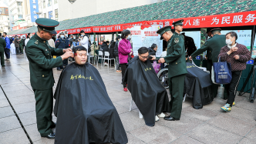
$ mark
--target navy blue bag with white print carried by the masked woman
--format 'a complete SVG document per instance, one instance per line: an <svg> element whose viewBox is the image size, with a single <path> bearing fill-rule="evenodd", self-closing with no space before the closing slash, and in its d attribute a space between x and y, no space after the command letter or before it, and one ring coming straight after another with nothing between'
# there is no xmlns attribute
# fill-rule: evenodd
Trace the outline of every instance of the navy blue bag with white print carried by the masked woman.
<svg viewBox="0 0 256 144"><path fill-rule="evenodd" d="M211 80L215 84L228 84L232 79L231 64L227 62L214 62L211 69Z"/></svg>

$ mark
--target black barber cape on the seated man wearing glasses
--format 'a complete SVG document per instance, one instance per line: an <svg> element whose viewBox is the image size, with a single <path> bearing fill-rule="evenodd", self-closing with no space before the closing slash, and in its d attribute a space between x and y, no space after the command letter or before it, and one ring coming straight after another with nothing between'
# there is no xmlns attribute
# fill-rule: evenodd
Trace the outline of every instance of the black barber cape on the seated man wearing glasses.
<svg viewBox="0 0 256 144"><path fill-rule="evenodd" d="M157 78L150 60L141 62L139 57L135 56L128 63L123 82L127 82L127 88L147 126L155 125L156 115L170 112L167 91Z"/></svg>

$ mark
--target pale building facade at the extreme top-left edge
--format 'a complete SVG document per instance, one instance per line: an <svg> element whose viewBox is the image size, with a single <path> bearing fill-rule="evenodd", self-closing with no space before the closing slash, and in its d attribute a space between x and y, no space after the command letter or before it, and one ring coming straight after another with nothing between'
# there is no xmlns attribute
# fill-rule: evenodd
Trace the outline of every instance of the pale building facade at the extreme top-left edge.
<svg viewBox="0 0 256 144"><path fill-rule="evenodd" d="M8 6L0 2L0 32L9 32Z"/></svg>

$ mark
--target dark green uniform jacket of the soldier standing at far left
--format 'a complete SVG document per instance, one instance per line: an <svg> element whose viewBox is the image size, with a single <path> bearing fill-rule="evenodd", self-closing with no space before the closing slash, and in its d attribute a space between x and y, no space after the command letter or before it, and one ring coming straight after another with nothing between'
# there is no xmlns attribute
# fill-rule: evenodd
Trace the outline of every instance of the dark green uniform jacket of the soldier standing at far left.
<svg viewBox="0 0 256 144"><path fill-rule="evenodd" d="M52 48L47 40L34 35L25 47L25 53L29 59L30 83L32 89L51 89L54 85L52 68L62 65L59 56L52 59L52 55L62 55L63 49Z"/></svg>

